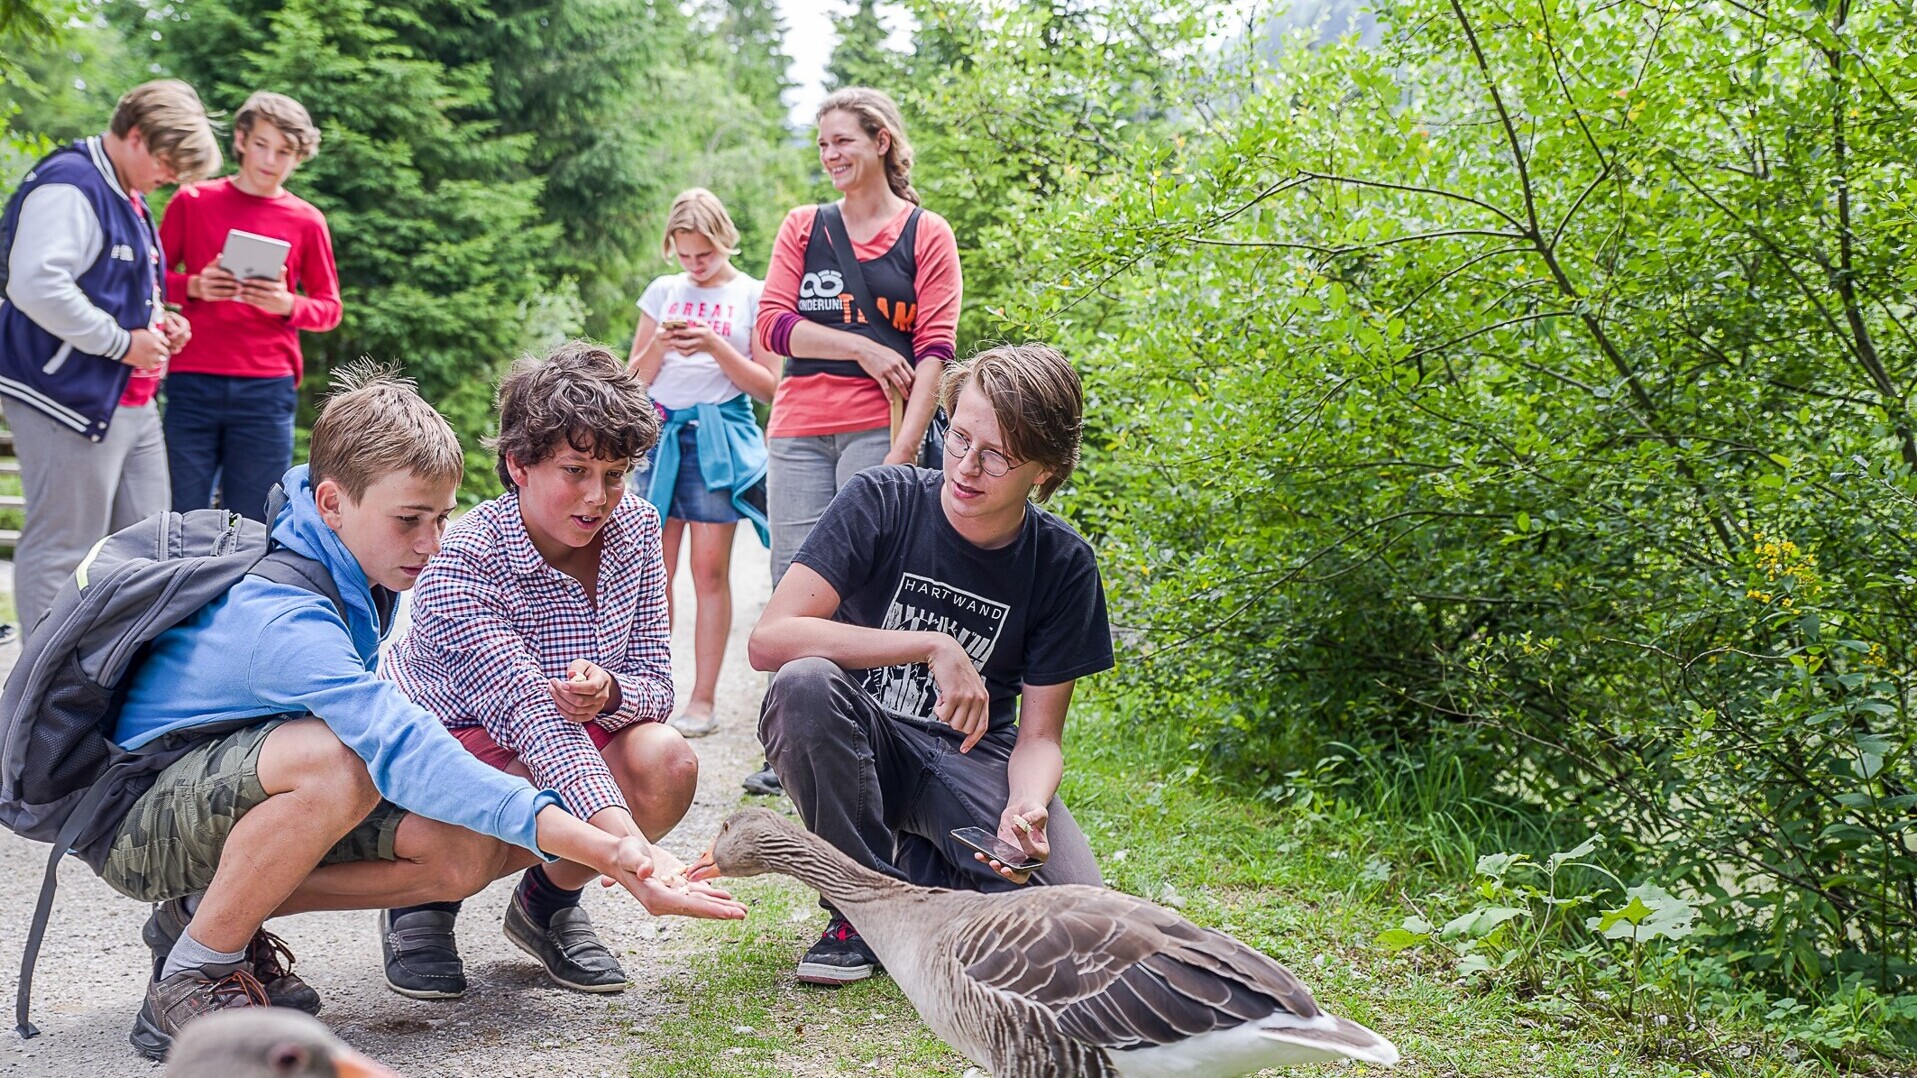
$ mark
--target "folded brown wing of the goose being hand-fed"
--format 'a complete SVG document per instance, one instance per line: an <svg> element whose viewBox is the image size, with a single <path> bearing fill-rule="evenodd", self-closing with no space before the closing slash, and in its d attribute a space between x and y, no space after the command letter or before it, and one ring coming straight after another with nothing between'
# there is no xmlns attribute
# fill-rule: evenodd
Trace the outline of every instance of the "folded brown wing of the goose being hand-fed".
<svg viewBox="0 0 1917 1078"><path fill-rule="evenodd" d="M960 934L964 976L1049 1011L1083 1043L1175 1043L1288 1011L1319 1015L1288 969L1150 902L1052 886L985 907Z"/></svg>

